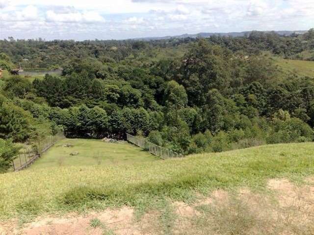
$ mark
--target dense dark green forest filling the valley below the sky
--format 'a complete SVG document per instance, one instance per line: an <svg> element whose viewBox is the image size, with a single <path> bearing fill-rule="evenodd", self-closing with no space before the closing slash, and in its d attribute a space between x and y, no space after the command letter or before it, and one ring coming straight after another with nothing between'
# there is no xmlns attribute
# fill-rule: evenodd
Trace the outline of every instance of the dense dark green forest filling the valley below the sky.
<svg viewBox="0 0 314 235"><path fill-rule="evenodd" d="M31 143L64 131L123 139L128 132L183 154L313 141L314 75L283 74L272 56L314 60L314 30L145 42L2 40L0 138ZM19 63L63 75L10 75Z"/></svg>

